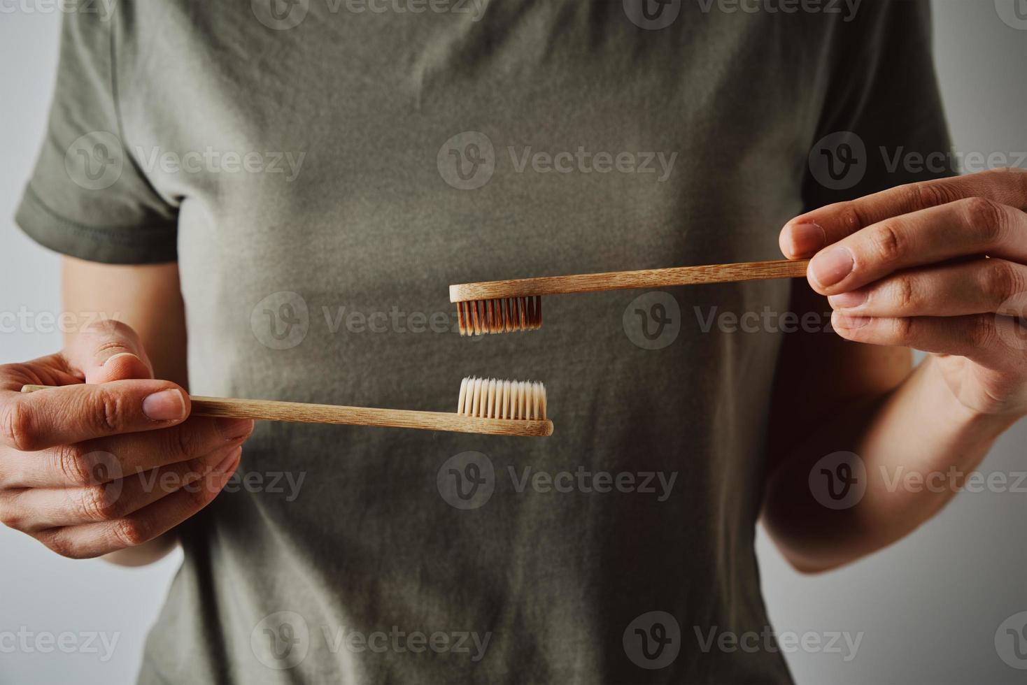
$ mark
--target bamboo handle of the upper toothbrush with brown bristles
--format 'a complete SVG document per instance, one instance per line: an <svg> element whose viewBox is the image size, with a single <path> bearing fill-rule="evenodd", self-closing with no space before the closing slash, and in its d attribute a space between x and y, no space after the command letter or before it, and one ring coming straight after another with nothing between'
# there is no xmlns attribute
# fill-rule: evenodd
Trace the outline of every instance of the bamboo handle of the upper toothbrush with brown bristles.
<svg viewBox="0 0 1027 685"><path fill-rule="evenodd" d="M630 290L633 288L665 288L673 285L758 281L772 278L797 278L806 275L809 259L778 259L715 264L701 267L614 271L605 274L543 276L510 281L463 283L450 286L450 301L459 303L496 297L527 297L557 295L570 292Z"/></svg>

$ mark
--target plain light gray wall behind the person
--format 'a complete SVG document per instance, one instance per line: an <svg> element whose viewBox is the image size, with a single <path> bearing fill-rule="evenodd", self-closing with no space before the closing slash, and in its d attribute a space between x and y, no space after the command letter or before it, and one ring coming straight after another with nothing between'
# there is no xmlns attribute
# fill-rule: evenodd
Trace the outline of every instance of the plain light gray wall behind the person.
<svg viewBox="0 0 1027 685"><path fill-rule="evenodd" d="M1027 0L935 0L938 66L961 152L1027 151L1027 22L1011 26L1000 18L1002 12L1015 17L1014 2L1027 14ZM60 23L52 4L0 1L0 315L24 308L38 324L0 331L0 363L34 358L61 342L59 332L38 330L46 322L40 314L60 312L58 257L10 219L43 136ZM1022 422L995 446L982 472L1027 471L1025 444ZM778 633L863 633L849 661L815 650L788 654L796 680L1024 682L1024 672L999 657L995 632L1027 611L1025 515L1027 492L963 493L900 545L820 576L792 572L761 533L763 587ZM100 653L9 652L0 641L0 683L130 682L179 560L144 569L70 561L0 528L0 635L118 635L106 660L103 647Z"/></svg>

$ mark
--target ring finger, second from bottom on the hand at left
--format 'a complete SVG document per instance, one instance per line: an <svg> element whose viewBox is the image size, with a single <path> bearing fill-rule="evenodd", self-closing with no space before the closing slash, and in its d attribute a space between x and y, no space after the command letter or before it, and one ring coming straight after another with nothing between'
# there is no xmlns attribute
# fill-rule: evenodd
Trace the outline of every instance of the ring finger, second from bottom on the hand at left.
<svg viewBox="0 0 1027 685"><path fill-rule="evenodd" d="M182 488L199 488L203 478L241 447L223 445L201 457L126 478L75 488L27 488L0 492L4 524L33 534L55 527L115 521Z"/></svg>

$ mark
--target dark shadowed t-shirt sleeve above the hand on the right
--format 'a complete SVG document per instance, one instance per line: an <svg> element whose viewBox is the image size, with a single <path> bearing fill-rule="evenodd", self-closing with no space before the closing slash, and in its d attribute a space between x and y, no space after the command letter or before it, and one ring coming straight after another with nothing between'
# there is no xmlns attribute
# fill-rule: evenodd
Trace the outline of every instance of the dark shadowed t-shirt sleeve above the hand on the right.
<svg viewBox="0 0 1027 685"><path fill-rule="evenodd" d="M928 0L864 2L836 37L803 180L806 208L954 175Z"/></svg>

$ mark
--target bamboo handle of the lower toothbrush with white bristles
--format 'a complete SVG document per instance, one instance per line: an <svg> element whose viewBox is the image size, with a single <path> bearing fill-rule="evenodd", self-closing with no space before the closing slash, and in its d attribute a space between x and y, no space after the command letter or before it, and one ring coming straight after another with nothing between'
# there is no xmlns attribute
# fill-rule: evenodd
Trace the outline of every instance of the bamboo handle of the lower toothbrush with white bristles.
<svg viewBox="0 0 1027 685"><path fill-rule="evenodd" d="M24 386L23 393L46 390L49 386ZM411 411L409 409L375 409L345 407L334 404L306 404L276 400L241 400L224 397L190 396L191 415L222 418L253 418L304 424L335 424L344 426L378 426L382 428L421 429L486 435L537 436L553 435L550 420L509 418L478 418L444 411Z"/></svg>

